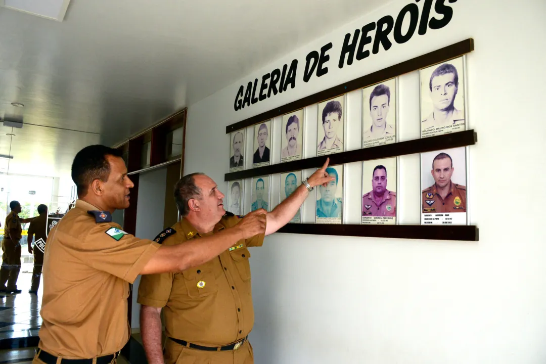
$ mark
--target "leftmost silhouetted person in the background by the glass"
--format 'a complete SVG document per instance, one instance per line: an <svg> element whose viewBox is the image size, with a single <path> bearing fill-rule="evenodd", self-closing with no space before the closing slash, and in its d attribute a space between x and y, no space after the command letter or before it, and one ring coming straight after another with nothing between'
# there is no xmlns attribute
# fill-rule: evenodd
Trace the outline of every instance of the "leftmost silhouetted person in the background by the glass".
<svg viewBox="0 0 546 364"><path fill-rule="evenodd" d="M21 213L21 204L19 201L11 201L9 203L11 212L5 218L4 224L4 240L2 240L2 267L0 267L0 292L5 293L21 293L17 289L17 278L21 271L21 234L23 228L21 224L26 224L34 219L22 219L19 217ZM7 285L6 285L7 282Z"/></svg>

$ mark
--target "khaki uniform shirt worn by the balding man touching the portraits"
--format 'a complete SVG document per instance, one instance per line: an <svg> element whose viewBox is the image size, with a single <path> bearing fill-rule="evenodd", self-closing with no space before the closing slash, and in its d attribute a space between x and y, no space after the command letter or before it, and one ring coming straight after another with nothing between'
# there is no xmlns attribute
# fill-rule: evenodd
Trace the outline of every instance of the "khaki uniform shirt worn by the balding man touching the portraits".
<svg viewBox="0 0 546 364"><path fill-rule="evenodd" d="M224 216L211 234L238 222L238 217ZM169 229L174 230L170 232L173 235L165 238L163 245L201 237L186 219ZM256 235L236 242L232 248L198 267L179 273L142 276L137 302L163 308L165 333L169 337L205 346L239 341L254 325L247 248L262 246L263 242L264 234Z"/></svg>

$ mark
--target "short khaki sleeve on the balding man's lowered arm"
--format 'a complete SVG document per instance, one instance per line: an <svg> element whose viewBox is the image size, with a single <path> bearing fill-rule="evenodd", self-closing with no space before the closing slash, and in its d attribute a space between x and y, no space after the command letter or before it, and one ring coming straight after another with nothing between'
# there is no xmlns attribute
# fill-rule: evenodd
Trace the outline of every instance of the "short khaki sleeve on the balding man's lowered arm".
<svg viewBox="0 0 546 364"><path fill-rule="evenodd" d="M176 236L176 235L175 235ZM176 242L175 236L165 239L162 245L172 246ZM174 273L160 273L155 275L143 275L138 287L136 302L140 305L163 308L167 305L171 289L173 288Z"/></svg>

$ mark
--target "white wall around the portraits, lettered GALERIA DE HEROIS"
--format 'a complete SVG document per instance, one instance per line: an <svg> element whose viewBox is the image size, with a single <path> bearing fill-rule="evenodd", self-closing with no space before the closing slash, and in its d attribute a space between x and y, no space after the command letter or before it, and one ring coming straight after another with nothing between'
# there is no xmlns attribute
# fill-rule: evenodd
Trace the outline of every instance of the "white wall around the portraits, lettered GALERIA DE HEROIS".
<svg viewBox="0 0 546 364"><path fill-rule="evenodd" d="M475 41L467 57L467 108L478 144L470 148L468 186L479 242L267 237L251 259L257 363L546 362L546 239L539 228L546 218L539 207L546 199L546 123L535 117L546 98L546 2L458 1L450 4L447 27L337 68L345 33L396 16L408 3L391 2L189 107L184 173L206 172L225 190L226 125L456 41ZM329 73L304 83L305 56L329 41ZM294 89L234 111L241 84L293 58L300 61ZM418 92L418 73L400 77L400 140L419 136ZM419 156L400 159L400 219L419 223Z"/></svg>

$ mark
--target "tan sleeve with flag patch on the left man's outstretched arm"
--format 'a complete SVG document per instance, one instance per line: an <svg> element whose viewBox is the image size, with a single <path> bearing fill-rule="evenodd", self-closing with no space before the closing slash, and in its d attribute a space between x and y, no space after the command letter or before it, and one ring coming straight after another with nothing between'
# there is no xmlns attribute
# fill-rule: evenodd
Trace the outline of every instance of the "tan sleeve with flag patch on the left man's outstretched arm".
<svg viewBox="0 0 546 364"><path fill-rule="evenodd" d="M60 231L57 232L57 234ZM160 245L147 239L127 234L117 225L94 225L83 243L67 247L85 253L84 262L91 267L108 272L124 281L133 283Z"/></svg>

